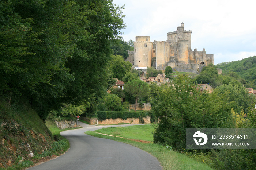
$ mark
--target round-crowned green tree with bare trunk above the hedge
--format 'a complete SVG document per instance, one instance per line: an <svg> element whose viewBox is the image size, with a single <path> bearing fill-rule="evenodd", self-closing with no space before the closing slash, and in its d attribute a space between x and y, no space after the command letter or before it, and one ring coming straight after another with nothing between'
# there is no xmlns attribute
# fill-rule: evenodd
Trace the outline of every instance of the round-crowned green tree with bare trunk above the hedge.
<svg viewBox="0 0 256 170"><path fill-rule="evenodd" d="M138 98L146 97L149 94L148 84L139 79L128 81L124 85L124 90L135 98L135 111L137 109Z"/></svg>

